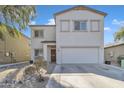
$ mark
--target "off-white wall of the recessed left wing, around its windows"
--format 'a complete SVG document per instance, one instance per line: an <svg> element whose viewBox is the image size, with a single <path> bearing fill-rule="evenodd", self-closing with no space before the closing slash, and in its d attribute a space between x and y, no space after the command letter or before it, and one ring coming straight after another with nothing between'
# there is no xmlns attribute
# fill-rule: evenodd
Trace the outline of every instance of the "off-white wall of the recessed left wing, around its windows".
<svg viewBox="0 0 124 93"><path fill-rule="evenodd" d="M43 30L44 37L34 37L34 31L35 30ZM56 41L56 31L55 31L55 25L50 26L35 26L31 27L31 59L34 60L34 50L35 49L41 49L43 48L44 44L41 43L42 41ZM45 50L43 50L43 53L46 53ZM46 59L46 54L44 54Z"/></svg>

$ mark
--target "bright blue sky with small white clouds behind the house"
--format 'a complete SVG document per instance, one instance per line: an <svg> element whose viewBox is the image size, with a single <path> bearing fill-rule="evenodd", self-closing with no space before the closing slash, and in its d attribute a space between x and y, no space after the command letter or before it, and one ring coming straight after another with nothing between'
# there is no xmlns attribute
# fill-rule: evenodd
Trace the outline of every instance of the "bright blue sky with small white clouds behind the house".
<svg viewBox="0 0 124 93"><path fill-rule="evenodd" d="M54 24L53 14L68 8L72 5L41 5L36 6L37 16L31 24ZM113 34L124 26L124 6L105 6L105 5L89 5L88 7L107 13L104 24L104 43L114 41ZM24 34L30 37L30 28L28 27Z"/></svg>

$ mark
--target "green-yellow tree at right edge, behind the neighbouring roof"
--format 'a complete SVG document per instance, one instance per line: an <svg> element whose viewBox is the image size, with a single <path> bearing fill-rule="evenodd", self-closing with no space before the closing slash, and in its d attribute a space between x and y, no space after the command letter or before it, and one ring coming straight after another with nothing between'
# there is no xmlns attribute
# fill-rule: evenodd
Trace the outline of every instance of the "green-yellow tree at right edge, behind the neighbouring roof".
<svg viewBox="0 0 124 93"><path fill-rule="evenodd" d="M115 41L124 40L124 27L114 34Z"/></svg>

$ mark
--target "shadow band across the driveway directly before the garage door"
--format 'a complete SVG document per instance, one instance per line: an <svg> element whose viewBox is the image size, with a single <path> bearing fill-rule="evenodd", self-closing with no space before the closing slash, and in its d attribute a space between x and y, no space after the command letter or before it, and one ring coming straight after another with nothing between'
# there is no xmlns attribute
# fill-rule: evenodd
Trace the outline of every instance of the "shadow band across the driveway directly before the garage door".
<svg viewBox="0 0 124 93"><path fill-rule="evenodd" d="M98 64L80 64L80 65L56 65L54 74L87 74L93 73L109 78L124 80L124 70L117 70L115 68L109 68L104 65Z"/></svg>

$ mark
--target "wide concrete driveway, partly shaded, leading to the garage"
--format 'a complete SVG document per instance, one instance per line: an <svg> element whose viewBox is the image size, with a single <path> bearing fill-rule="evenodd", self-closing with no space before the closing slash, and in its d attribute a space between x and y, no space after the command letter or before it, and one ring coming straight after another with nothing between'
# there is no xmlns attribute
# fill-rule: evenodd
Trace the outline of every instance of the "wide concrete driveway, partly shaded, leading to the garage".
<svg viewBox="0 0 124 93"><path fill-rule="evenodd" d="M124 88L124 70L98 64L56 65L46 87Z"/></svg>

